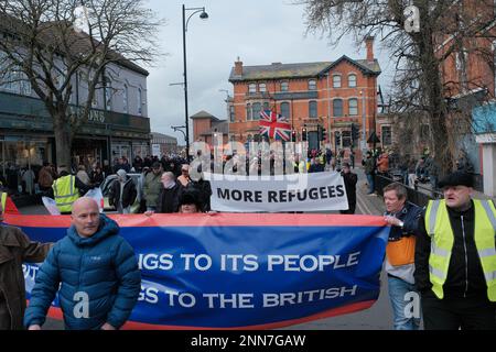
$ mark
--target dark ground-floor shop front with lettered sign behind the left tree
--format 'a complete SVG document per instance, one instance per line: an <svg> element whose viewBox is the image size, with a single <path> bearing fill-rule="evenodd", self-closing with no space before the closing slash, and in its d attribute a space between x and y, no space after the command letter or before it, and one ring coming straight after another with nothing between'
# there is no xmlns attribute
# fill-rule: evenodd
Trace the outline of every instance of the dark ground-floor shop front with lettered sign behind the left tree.
<svg viewBox="0 0 496 352"><path fill-rule="evenodd" d="M150 151L150 120L95 110L72 145L73 167L111 165L115 157L144 157ZM37 179L44 163L56 164L52 118L39 99L0 91L0 182L18 191L24 170ZM31 173L29 173L31 175Z"/></svg>

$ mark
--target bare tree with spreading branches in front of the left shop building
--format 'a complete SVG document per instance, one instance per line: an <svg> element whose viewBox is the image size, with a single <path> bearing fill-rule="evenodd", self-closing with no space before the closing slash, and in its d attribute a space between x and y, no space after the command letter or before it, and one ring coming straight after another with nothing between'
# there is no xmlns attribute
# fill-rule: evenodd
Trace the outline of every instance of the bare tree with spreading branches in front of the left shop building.
<svg viewBox="0 0 496 352"><path fill-rule="evenodd" d="M104 75L116 65L151 64L159 55L157 33L163 23L142 0L86 0L87 16L76 18L80 3L0 0L2 76L29 82L44 102L53 119L56 162L67 166L96 90L107 85ZM76 75L84 77L87 97L75 111L69 102Z"/></svg>

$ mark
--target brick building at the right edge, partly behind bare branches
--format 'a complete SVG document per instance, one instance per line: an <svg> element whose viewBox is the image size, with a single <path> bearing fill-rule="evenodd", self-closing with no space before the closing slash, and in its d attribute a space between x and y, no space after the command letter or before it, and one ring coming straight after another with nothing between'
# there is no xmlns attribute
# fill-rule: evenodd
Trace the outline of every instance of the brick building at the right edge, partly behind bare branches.
<svg viewBox="0 0 496 352"><path fill-rule="evenodd" d="M496 197L495 4L493 1L460 1L451 10L455 12L457 7L463 7L465 21L472 21L474 35L435 38L436 55L445 56L441 77L450 102L450 127L459 135L453 156L465 155L474 167L476 188Z"/></svg>

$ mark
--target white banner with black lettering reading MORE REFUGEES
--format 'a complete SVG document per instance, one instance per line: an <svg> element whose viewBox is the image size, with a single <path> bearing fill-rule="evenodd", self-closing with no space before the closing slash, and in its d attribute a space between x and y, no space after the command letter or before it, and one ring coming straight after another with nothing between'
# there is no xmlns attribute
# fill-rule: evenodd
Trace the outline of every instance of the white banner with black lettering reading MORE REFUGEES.
<svg viewBox="0 0 496 352"><path fill-rule="evenodd" d="M204 173L212 185L212 209L225 212L346 210L338 173L237 176Z"/></svg>

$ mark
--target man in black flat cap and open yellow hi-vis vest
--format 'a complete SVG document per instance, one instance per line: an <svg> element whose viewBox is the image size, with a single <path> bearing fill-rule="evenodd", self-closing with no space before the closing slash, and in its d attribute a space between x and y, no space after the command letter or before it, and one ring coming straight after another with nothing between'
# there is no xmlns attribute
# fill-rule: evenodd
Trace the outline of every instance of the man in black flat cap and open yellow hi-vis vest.
<svg viewBox="0 0 496 352"><path fill-rule="evenodd" d="M414 279L427 330L496 330L496 208L472 199L474 180L456 172L440 180L419 220Z"/></svg>

